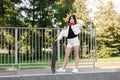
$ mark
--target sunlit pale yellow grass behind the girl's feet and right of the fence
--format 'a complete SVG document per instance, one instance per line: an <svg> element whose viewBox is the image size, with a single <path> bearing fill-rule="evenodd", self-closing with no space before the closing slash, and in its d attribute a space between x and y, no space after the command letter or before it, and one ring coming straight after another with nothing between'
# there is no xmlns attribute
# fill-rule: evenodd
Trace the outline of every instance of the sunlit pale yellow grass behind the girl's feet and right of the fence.
<svg viewBox="0 0 120 80"><path fill-rule="evenodd" d="M74 61L70 62L70 64L74 65ZM73 67L73 65L68 67L71 68ZM95 62L95 67L112 67L112 66L120 67L120 57L97 58L97 61ZM88 67L93 67L93 65L89 64L89 62L88 63L84 62L83 64L80 64L79 67L88 68Z"/></svg>

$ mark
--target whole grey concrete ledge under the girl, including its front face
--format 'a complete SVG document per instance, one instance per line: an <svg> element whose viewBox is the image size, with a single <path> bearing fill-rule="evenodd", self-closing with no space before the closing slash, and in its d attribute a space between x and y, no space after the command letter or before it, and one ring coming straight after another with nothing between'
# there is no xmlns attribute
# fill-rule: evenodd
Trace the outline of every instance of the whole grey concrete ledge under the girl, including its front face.
<svg viewBox="0 0 120 80"><path fill-rule="evenodd" d="M79 73L52 73L50 69L0 70L0 80L120 80L120 66L79 68Z"/></svg>

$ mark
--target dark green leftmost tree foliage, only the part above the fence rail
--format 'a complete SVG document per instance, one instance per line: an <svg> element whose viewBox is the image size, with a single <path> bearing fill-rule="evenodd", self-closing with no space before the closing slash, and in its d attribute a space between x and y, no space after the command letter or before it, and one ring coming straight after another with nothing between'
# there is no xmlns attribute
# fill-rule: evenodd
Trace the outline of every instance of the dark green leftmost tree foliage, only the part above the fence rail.
<svg viewBox="0 0 120 80"><path fill-rule="evenodd" d="M0 0L0 25L1 26L16 26L20 23L17 16L19 11L15 4L20 3L21 0Z"/></svg>

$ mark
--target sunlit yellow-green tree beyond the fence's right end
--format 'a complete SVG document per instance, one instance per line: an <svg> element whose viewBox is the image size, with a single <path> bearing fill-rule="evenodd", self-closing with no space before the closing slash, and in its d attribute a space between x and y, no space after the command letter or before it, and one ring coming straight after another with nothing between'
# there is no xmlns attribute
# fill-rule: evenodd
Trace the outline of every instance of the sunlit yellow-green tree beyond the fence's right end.
<svg viewBox="0 0 120 80"><path fill-rule="evenodd" d="M99 29L97 30L98 50L101 54L106 53L107 57L111 56L113 51L117 55L117 52L120 52L120 14L114 10L114 4L111 1L107 2L106 5L102 0L99 2L98 12L95 16L96 26ZM107 48L106 51L104 50L105 47Z"/></svg>

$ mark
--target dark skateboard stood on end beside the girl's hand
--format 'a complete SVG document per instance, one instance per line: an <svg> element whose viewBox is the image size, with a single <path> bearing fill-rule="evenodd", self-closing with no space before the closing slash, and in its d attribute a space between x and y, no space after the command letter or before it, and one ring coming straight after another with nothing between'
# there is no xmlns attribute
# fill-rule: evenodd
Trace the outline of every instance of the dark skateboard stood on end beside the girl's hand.
<svg viewBox="0 0 120 80"><path fill-rule="evenodd" d="M52 61L51 61L51 71L55 73L56 71L56 56L57 56L57 41L54 42L52 48Z"/></svg>

